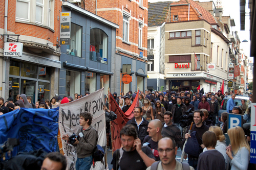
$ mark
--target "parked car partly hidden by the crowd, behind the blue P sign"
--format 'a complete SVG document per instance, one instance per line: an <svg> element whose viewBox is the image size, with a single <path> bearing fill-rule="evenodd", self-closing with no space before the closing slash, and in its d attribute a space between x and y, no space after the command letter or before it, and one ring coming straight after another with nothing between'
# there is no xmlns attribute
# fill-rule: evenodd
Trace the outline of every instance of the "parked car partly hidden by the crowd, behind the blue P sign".
<svg viewBox="0 0 256 170"><path fill-rule="evenodd" d="M218 112L218 125L220 125L222 122L221 122L221 113L223 112L226 112L227 111L227 101L231 98L231 95L227 95L223 100L222 100L222 103L221 103L221 107L220 107L220 110ZM248 96L244 96L244 95L236 95L236 98L234 98L234 104L236 106L241 106L242 105L242 100L245 100L245 102L247 102L247 100L249 100L249 97Z"/></svg>

